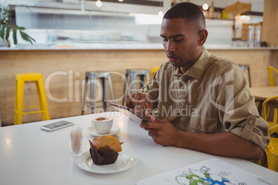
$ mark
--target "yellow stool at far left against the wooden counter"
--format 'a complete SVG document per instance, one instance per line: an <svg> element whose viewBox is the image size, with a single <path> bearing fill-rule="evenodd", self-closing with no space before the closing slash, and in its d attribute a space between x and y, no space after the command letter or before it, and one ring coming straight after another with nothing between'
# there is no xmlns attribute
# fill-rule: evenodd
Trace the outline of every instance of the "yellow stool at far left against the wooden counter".
<svg viewBox="0 0 278 185"><path fill-rule="evenodd" d="M39 106L23 106L24 84L35 83ZM22 115L41 113L42 120L49 120L48 106L46 101L46 91L44 90L44 79L38 72L19 73L16 75L15 85L15 125L22 123ZM22 113L23 108L39 107L41 110Z"/></svg>

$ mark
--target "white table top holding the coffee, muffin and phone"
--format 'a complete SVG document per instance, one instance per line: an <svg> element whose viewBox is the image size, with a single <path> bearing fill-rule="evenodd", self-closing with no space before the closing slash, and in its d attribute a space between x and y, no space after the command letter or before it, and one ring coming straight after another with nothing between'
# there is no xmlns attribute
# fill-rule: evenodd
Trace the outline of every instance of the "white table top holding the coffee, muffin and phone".
<svg viewBox="0 0 278 185"><path fill-rule="evenodd" d="M112 114L112 113L110 113ZM135 184L140 179L171 171L176 168L218 158L245 171L277 183L278 173L243 159L218 157L194 150L163 147L155 144L139 123L119 113L114 124L120 127L115 135L123 150L136 153L135 166L120 173L90 173L75 164L68 140L68 128L53 132L40 130L44 124L59 120L72 121L84 128L83 152L89 150L88 140L94 137L86 133L91 126L91 116L68 117L30 124L0 128L0 184Z"/></svg>

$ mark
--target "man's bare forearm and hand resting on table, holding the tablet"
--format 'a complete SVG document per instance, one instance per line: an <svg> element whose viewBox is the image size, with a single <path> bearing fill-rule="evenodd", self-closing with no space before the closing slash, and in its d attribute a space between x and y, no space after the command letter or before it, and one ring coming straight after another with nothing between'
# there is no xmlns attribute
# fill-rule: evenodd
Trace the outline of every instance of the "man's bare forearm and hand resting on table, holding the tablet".
<svg viewBox="0 0 278 185"><path fill-rule="evenodd" d="M141 128L149 131L156 144L189 148L203 153L241 159L259 160L263 150L256 144L243 139L231 132L216 134L187 133L176 129L167 119L156 119L152 122L142 121Z"/></svg>

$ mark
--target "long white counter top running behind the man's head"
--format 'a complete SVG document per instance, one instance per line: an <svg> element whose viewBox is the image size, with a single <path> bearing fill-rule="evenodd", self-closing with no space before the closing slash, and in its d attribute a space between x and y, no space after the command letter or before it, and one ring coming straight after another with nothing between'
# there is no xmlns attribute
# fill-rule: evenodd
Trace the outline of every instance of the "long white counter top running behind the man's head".
<svg viewBox="0 0 278 185"><path fill-rule="evenodd" d="M206 43L209 50L278 50L278 47L233 47L232 43ZM26 44L0 50L161 50L162 43L56 43L56 44Z"/></svg>

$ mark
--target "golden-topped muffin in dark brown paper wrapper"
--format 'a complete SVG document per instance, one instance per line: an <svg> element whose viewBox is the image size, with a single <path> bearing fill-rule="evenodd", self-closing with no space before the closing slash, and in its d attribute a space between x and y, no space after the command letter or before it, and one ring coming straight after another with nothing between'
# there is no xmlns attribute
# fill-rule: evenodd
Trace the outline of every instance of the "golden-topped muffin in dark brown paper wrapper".
<svg viewBox="0 0 278 185"><path fill-rule="evenodd" d="M122 151L119 140L113 135L102 135L90 142L90 153L96 165L113 164Z"/></svg>

